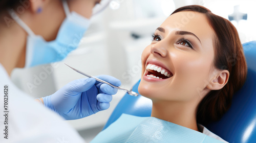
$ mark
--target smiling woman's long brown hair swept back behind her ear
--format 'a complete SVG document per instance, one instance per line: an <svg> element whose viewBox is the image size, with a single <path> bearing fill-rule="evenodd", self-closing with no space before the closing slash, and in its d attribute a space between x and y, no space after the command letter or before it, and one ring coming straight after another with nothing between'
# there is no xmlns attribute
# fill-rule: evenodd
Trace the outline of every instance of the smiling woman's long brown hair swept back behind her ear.
<svg viewBox="0 0 256 143"><path fill-rule="evenodd" d="M181 7L172 14L181 11L194 11L206 16L210 27L215 31L214 66L221 70L227 69L230 73L227 84L220 90L211 90L198 106L197 122L205 125L219 120L231 106L234 92L246 80L246 60L238 32L229 20L197 5Z"/></svg>

